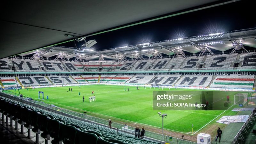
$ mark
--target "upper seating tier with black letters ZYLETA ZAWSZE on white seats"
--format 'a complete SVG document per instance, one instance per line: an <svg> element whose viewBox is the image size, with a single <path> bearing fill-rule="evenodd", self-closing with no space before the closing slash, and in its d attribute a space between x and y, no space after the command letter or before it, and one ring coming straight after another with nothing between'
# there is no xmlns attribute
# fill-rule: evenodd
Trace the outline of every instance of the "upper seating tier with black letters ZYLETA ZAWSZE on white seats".
<svg viewBox="0 0 256 144"><path fill-rule="evenodd" d="M237 65L236 65L237 64ZM223 54L192 57L165 58L157 60L75 62L54 60L1 59L0 72L104 72L104 71L162 71L197 69L253 69L256 68L256 53Z"/></svg>

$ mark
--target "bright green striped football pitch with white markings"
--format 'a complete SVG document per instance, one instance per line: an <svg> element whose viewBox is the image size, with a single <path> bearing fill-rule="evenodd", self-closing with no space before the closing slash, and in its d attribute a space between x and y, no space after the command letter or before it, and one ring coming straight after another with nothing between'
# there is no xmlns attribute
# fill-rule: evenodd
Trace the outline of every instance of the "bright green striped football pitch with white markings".
<svg viewBox="0 0 256 144"><path fill-rule="evenodd" d="M72 88L72 92L68 91L68 88ZM126 88L126 91L124 91ZM127 89L130 89L128 92ZM139 87L140 90L136 90L135 86L122 86L122 85L81 85L68 86L68 87L47 87L36 88L34 91L29 89L20 90L20 94L25 97L31 97L34 100L38 100L38 91L44 92L44 102L48 104L54 104L60 108L66 108L77 112L86 111L90 113L96 113L108 117L118 118L120 121L130 121L132 123L140 125L150 125L153 127L162 127L162 118L157 114L159 111L153 110L153 91L168 91L168 88L164 90L158 88L150 89L149 87ZM67 92L68 91L68 92ZM96 96L96 101L89 102L89 96L92 91ZM171 91L196 91L192 89L171 89ZM7 93L18 95L18 90L5 91ZM78 93L81 96L78 96ZM221 91L219 91L221 92ZM230 103L234 106L234 95L238 92L229 92ZM232 95L231 95L232 94ZM42 100L42 95L41 99ZM49 99L46 100L46 96ZM83 102L84 96L84 102ZM221 96L220 101L226 101L226 96ZM217 117L220 115L228 114L236 115L236 112L228 110L164 110L162 113L168 114L164 119L164 128L175 132L191 133L192 124L194 125L194 132L199 131L201 128L211 122L216 122Z"/></svg>

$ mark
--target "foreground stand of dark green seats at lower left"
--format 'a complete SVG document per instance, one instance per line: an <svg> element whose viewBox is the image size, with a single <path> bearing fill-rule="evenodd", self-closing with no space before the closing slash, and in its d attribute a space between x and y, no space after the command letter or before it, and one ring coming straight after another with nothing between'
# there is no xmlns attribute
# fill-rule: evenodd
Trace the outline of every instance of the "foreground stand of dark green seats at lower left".
<svg viewBox="0 0 256 144"><path fill-rule="evenodd" d="M39 143L39 134L45 139L45 143L52 140L55 143L73 143L81 144L86 140L90 144L153 144L156 141L134 138L133 135L125 132L117 132L104 125L98 125L90 122L81 121L75 118L63 116L50 111L20 103L8 98L0 97L0 109L2 120L15 121L15 125L21 126L21 133L24 133L24 127L28 129L30 138L31 130L36 133L36 143ZM114 143L112 143L114 142Z"/></svg>

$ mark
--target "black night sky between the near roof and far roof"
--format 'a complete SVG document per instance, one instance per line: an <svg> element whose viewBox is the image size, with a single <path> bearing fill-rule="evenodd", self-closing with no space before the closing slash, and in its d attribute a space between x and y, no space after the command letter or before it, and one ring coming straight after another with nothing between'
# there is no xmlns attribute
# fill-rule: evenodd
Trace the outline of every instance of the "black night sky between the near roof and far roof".
<svg viewBox="0 0 256 144"><path fill-rule="evenodd" d="M87 37L95 50L184 38L256 27L254 0L243 0L205 10L156 20L129 28ZM61 46L74 47L74 42Z"/></svg>

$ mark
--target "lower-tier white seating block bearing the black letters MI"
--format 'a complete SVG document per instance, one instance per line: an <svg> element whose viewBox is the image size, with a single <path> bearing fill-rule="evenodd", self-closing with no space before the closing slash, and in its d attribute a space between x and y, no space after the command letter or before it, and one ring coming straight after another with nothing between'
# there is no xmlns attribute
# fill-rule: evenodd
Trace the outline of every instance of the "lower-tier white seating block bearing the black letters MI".
<svg viewBox="0 0 256 144"><path fill-rule="evenodd" d="M206 87L211 82L212 76L183 76L175 85L189 87Z"/></svg>

